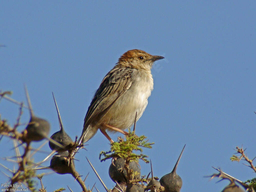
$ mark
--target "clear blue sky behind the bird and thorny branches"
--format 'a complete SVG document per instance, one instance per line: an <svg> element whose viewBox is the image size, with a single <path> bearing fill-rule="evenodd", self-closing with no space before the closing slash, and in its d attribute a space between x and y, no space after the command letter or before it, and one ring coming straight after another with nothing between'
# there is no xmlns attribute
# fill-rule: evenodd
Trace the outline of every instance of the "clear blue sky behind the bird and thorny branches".
<svg viewBox="0 0 256 192"><path fill-rule="evenodd" d="M137 122L137 134L155 142L144 153L152 160L154 176L161 178L173 169L186 144L177 169L181 191L220 191L228 182L204 178L216 173L211 166L242 181L255 177L242 162L229 159L241 145L249 158L255 156L255 6L255 1L2 1L0 44L6 47L0 48L0 89L26 101L26 83L35 114L51 124L50 134L59 129L53 91L65 130L74 140L81 135L94 92L120 55L142 49L164 56L152 68L154 90ZM13 125L18 106L1 100L0 114ZM21 121L28 120L24 110ZM114 140L117 136L111 134ZM111 162L99 161L108 143L98 132L87 142L88 151L76 155L79 173L90 171L86 185L96 182L100 191L104 189L85 156L112 188ZM8 138L0 147L3 156L14 155ZM43 150L50 152L48 144ZM147 175L150 165L140 165ZM0 181L8 178L0 174ZM53 173L43 182L48 191L66 185L81 189L71 175Z"/></svg>

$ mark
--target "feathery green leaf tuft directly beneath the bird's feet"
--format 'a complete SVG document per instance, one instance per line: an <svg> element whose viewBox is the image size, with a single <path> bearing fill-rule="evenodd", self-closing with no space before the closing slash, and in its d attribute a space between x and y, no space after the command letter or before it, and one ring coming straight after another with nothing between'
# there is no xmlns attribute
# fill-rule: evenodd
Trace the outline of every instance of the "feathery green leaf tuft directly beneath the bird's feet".
<svg viewBox="0 0 256 192"><path fill-rule="evenodd" d="M152 148L151 145L154 143L148 143L148 140L145 140L147 137L141 135L140 137L135 135L134 132L130 132L129 135L125 135L124 138L118 137L118 141L111 144L110 151L100 152L100 160L105 161L106 159L121 157L125 158L128 162L135 161L138 162L138 159L142 159L144 162L149 163L146 159L147 156L142 154L142 147ZM141 154L136 154L133 151L139 151ZM104 158L101 159L101 156Z"/></svg>

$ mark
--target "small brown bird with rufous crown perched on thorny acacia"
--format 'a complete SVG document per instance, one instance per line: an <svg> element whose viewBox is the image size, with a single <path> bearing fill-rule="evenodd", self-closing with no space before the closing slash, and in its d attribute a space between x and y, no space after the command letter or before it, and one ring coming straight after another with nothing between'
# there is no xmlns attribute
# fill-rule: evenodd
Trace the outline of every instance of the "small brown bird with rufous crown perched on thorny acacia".
<svg viewBox="0 0 256 192"><path fill-rule="evenodd" d="M145 51L133 49L125 52L111 69L96 91L84 119L83 132L79 144L87 142L100 131L113 143L106 133L123 131L140 119L147 98L153 90L151 68L154 61L164 59Z"/></svg>

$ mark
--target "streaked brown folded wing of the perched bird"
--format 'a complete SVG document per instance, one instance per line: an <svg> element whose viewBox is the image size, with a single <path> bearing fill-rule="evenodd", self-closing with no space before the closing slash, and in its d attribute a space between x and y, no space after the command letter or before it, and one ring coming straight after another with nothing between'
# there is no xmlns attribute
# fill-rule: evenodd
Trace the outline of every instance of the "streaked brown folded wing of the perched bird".
<svg viewBox="0 0 256 192"><path fill-rule="evenodd" d="M94 117L102 118L118 98L130 88L133 76L132 68L113 68L102 80L84 118L85 131Z"/></svg>

